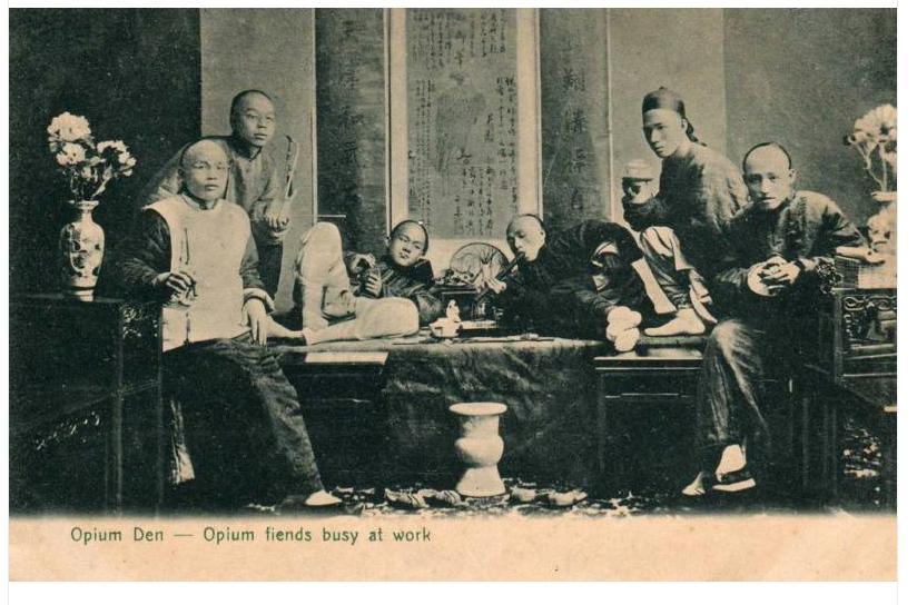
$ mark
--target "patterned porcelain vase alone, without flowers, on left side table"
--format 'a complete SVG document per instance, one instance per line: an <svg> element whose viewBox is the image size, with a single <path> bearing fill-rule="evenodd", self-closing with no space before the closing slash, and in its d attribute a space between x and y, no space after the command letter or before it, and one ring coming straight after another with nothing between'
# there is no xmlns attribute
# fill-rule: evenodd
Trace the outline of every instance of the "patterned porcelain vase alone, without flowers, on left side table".
<svg viewBox="0 0 917 605"><path fill-rule="evenodd" d="M92 220L98 200L68 201L75 220L60 230L60 258L63 294L79 300L92 300L105 255L105 231Z"/></svg>

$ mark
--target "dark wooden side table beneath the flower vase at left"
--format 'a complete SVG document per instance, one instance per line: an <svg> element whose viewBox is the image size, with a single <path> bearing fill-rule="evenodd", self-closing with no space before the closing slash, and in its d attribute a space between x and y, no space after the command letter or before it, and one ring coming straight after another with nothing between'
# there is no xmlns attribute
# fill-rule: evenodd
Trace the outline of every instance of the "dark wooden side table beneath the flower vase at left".
<svg viewBox="0 0 917 605"><path fill-rule="evenodd" d="M11 509L161 502L161 348L157 304L11 297Z"/></svg>

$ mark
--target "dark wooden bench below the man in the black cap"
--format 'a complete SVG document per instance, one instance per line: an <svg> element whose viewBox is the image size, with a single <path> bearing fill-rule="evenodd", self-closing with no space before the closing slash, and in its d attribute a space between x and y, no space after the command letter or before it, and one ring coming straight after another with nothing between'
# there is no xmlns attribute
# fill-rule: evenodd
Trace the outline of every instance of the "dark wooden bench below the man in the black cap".
<svg viewBox="0 0 917 605"><path fill-rule="evenodd" d="M706 345L707 336L642 337L633 351L594 359L601 489L627 492L647 480L672 489L697 473L696 400ZM791 378L765 377L761 389L772 432L787 445L778 444L771 462L796 475L801 468L795 452L808 445L798 443L798 426L806 420L790 395ZM644 476L638 484L640 470Z"/></svg>

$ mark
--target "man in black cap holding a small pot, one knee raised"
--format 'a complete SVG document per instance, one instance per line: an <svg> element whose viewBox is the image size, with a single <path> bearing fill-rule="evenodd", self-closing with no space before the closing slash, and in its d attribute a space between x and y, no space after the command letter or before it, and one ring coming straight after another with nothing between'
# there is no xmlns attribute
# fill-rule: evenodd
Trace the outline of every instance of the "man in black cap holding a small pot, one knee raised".
<svg viewBox="0 0 917 605"><path fill-rule="evenodd" d="M730 257L723 225L746 202L748 190L739 169L701 143L678 93L660 88L643 98L643 136L662 159L659 192L630 184L624 190L624 219L642 231L647 264L672 305L674 318L648 328L648 336L703 334L716 319L706 279Z"/></svg>

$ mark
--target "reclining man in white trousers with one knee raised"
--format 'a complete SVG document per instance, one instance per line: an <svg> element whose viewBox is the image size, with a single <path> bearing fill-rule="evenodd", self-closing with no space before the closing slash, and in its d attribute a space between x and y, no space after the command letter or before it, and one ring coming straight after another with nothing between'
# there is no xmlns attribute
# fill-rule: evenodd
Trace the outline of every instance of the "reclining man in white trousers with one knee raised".
<svg viewBox="0 0 917 605"><path fill-rule="evenodd" d="M404 220L392 229L387 252L344 252L341 234L319 222L303 236L293 286L299 337L307 345L414 334L442 315L432 292L433 269L424 255L426 229Z"/></svg>

